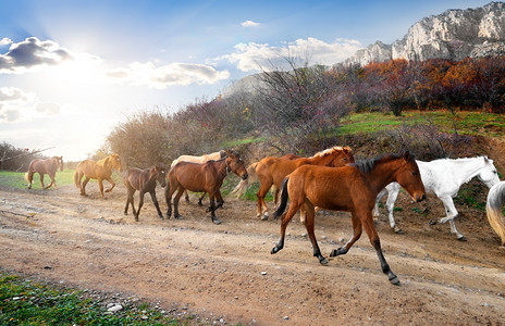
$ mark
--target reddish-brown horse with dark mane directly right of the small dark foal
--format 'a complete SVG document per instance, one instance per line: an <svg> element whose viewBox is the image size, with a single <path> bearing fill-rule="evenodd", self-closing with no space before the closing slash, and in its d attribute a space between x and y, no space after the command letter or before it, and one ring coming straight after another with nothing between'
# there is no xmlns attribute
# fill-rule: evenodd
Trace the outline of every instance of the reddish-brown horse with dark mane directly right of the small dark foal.
<svg viewBox="0 0 505 326"><path fill-rule="evenodd" d="M219 161L208 161L206 163L180 162L169 172L169 185L165 188L167 200L167 218L172 215L172 196L177 190L174 198L174 217L181 218L178 214L178 200L184 190L195 192L208 192L210 198L210 217L215 224L221 222L215 217L214 211L220 208L224 201L221 197L220 188L224 177L229 172L235 173L243 179L247 178L247 171L244 166L244 161L237 153L226 151L227 158ZM215 206L214 199L218 200Z"/></svg>

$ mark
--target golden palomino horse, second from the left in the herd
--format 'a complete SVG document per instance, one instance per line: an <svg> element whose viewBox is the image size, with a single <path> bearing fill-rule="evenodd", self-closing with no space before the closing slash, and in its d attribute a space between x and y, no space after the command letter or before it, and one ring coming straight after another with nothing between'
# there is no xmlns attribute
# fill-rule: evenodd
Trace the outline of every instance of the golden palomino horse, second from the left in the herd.
<svg viewBox="0 0 505 326"><path fill-rule="evenodd" d="M81 189L81 196L86 196L86 185L88 184L89 179L98 179L101 198L104 198L103 180L108 180L109 184L111 184L111 187L107 189L106 192L111 191L115 187L115 183L111 178L112 168L115 168L120 172L123 170L121 166L121 159L118 154L111 154L100 161L84 160L77 164L77 167L74 172L74 185ZM85 179L83 184L81 184L83 176Z"/></svg>

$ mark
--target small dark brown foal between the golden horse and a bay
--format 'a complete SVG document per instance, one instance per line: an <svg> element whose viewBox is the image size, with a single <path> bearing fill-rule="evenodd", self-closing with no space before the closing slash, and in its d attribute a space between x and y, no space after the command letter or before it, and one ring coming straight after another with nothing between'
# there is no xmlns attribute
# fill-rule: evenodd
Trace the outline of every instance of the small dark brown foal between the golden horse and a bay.
<svg viewBox="0 0 505 326"><path fill-rule="evenodd" d="M123 176L124 185L127 190L126 205L124 206L124 215L128 214L128 204L132 204L133 216L135 221L138 221L138 215L140 215L140 209L144 205L144 195L149 192L152 199L152 203L158 211L158 216L163 220L163 214L161 213L160 205L156 199L156 181L158 181L162 188L167 185L167 170L164 167L158 167L152 165L150 168L140 170L140 168L130 168ZM138 210L135 211L135 205L133 203L133 195L135 191L139 191L139 202Z"/></svg>

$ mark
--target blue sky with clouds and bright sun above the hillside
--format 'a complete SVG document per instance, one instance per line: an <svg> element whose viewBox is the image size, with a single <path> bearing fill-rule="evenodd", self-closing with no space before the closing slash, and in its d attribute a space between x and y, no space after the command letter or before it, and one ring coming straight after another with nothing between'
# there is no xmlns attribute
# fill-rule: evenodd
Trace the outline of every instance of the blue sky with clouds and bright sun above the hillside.
<svg viewBox="0 0 505 326"><path fill-rule="evenodd" d="M272 60L331 65L489 2L0 0L0 141L81 161L134 114L213 99Z"/></svg>

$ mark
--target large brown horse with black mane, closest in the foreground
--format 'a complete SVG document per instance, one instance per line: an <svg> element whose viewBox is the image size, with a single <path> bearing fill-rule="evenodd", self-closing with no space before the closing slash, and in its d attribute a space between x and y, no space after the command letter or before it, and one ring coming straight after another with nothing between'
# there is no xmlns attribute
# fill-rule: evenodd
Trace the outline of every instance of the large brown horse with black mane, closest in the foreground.
<svg viewBox="0 0 505 326"><path fill-rule="evenodd" d="M282 184L281 204L273 216L279 217L284 212L288 197L291 205L287 213L283 215L281 238L271 253L276 253L284 247L287 224L305 204L307 210L305 226L312 243L313 255L321 264L328 264L327 259L321 255L313 234L315 205L333 211L346 211L352 215L354 236L344 247L333 250L330 256L347 253L361 236L361 227L365 227L381 262L382 272L387 274L392 284L399 284L382 254L372 217L377 195L392 181L397 181L416 201L426 198L419 168L408 151L404 154L377 158L343 167L306 165L297 168Z"/></svg>

